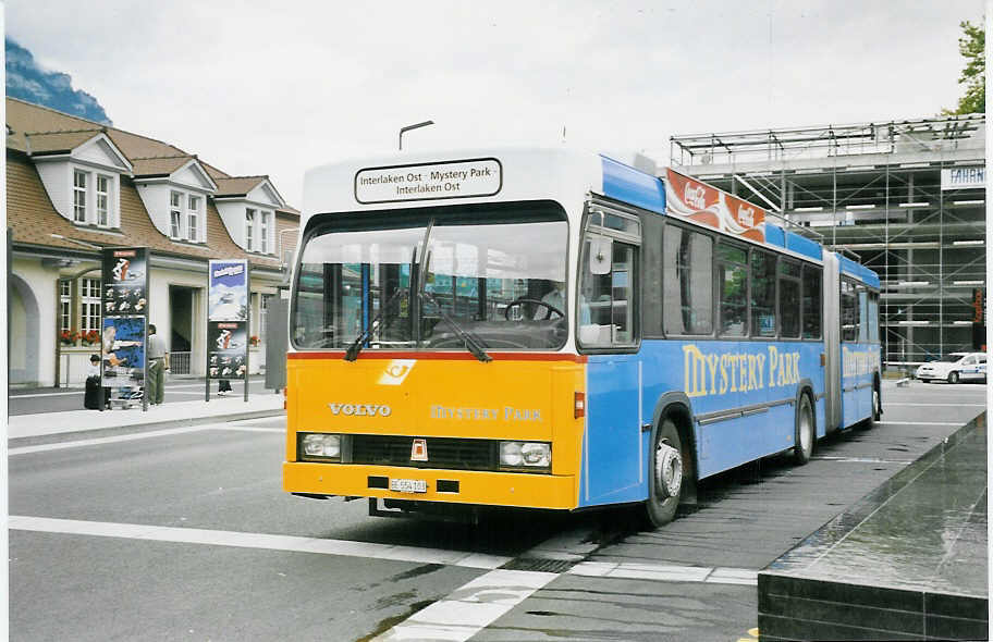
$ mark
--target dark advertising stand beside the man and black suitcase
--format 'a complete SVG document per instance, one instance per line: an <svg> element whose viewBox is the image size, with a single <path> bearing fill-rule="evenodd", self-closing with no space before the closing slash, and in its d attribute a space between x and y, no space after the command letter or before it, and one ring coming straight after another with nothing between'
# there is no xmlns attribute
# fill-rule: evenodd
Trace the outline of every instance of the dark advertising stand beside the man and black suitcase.
<svg viewBox="0 0 993 642"><path fill-rule="evenodd" d="M101 385L112 405L124 408L144 395L148 318L148 248L106 248L100 293Z"/></svg>

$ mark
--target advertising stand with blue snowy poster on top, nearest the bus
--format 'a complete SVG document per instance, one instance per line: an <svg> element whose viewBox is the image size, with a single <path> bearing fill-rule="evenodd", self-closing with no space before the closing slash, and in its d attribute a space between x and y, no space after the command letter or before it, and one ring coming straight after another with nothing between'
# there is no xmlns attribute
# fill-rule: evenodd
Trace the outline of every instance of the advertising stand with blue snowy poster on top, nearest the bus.
<svg viewBox="0 0 993 642"><path fill-rule="evenodd" d="M248 261L212 260L207 282L207 399L211 380L245 380L248 399Z"/></svg>

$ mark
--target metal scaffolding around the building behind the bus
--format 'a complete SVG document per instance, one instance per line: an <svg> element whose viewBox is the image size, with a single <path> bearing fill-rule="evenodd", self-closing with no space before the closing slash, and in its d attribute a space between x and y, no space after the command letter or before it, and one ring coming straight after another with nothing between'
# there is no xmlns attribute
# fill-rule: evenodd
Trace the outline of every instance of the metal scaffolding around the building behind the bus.
<svg viewBox="0 0 993 642"><path fill-rule="evenodd" d="M679 135L670 163L875 270L883 359L909 368L973 347L972 303L985 288L984 133L985 115L968 114Z"/></svg>

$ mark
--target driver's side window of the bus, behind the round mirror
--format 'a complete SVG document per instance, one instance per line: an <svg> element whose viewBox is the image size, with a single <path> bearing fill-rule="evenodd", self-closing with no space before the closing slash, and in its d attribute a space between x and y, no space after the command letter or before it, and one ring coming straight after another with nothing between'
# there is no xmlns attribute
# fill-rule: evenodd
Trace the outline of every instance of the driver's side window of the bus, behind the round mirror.
<svg viewBox="0 0 993 642"><path fill-rule="evenodd" d="M610 271L590 270L591 242L584 242L578 300L578 342L584 347L604 348L637 343L637 246L614 239L610 246Z"/></svg>

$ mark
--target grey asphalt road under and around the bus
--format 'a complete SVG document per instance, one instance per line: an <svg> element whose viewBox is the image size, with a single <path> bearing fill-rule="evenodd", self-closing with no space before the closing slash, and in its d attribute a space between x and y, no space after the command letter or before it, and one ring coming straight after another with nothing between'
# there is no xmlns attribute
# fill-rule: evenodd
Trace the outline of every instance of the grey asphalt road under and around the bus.
<svg viewBox="0 0 993 642"><path fill-rule="evenodd" d="M983 385L887 383L882 424L822 442L804 467L773 459L710 480L655 531L625 509L474 526L293 497L280 487L282 419L15 440L11 639L368 640L438 607L464 626L449 605L517 568L514 587L476 600L483 628L458 639L755 640L756 587L690 571L763 568L984 404ZM629 573L573 572L597 565Z"/></svg>

